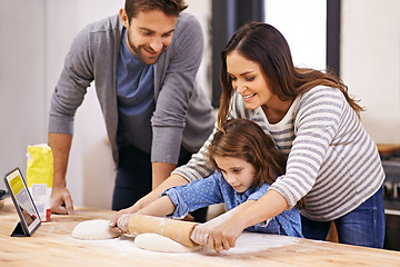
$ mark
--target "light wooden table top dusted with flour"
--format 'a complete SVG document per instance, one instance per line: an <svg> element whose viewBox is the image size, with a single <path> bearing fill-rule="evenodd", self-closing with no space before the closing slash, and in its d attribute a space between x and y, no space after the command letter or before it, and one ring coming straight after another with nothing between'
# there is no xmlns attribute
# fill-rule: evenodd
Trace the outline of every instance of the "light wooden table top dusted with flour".
<svg viewBox="0 0 400 267"><path fill-rule="evenodd" d="M399 266L400 253L301 238L248 234L248 244L217 254L153 253L136 248L132 238L84 241L70 234L88 219L109 219L110 210L76 207L72 216L52 215L32 237L10 237L18 222L10 199L0 210L0 266ZM246 236L246 235L242 235ZM253 238L254 237L254 238ZM241 238L241 237L240 237ZM239 239L238 239L239 240ZM272 244L272 245L271 245ZM276 244L276 245L273 245ZM278 245L277 245L278 244ZM238 241L238 247L239 241ZM244 248L244 249L243 249ZM246 250L247 248L247 250Z"/></svg>

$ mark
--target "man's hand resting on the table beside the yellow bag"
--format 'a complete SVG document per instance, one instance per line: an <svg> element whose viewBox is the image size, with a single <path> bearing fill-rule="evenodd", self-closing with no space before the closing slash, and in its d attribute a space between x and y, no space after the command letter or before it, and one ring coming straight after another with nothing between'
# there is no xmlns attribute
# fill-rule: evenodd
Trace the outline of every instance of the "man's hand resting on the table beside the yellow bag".
<svg viewBox="0 0 400 267"><path fill-rule="evenodd" d="M51 191L51 212L61 215L72 215L73 205L70 192L66 187L53 187Z"/></svg>

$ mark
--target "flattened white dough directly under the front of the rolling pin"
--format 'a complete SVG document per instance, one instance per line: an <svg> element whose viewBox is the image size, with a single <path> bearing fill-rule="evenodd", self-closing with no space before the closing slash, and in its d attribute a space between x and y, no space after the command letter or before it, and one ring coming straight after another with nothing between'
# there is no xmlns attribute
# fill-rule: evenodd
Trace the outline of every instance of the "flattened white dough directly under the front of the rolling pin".
<svg viewBox="0 0 400 267"><path fill-rule="evenodd" d="M134 238L134 245L139 248L158 253L193 253L202 247L187 247L168 237L157 234L141 234Z"/></svg>

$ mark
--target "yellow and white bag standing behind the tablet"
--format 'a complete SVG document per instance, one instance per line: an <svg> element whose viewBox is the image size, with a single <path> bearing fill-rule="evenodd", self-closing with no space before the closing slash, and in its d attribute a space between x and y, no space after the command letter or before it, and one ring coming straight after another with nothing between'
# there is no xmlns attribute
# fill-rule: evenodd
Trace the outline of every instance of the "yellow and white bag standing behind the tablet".
<svg viewBox="0 0 400 267"><path fill-rule="evenodd" d="M28 146L27 185L42 221L50 220L53 157L47 144Z"/></svg>

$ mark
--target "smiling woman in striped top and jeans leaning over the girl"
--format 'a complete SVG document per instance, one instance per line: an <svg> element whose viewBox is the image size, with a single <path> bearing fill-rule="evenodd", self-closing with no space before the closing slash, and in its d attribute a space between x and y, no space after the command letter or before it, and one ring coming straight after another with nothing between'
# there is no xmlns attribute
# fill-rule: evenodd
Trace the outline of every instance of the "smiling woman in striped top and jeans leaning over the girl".
<svg viewBox="0 0 400 267"><path fill-rule="evenodd" d="M259 123L288 156L287 169L259 200L197 227L193 240L222 241L229 249L246 227L306 197L300 211L306 238L326 239L334 221L340 243L381 248L384 172L377 147L361 126L362 108L347 87L329 71L296 68L283 36L266 23L239 29L221 58L218 125L229 118ZM176 169L163 187L182 182L179 177L190 181L209 176L203 151Z"/></svg>

